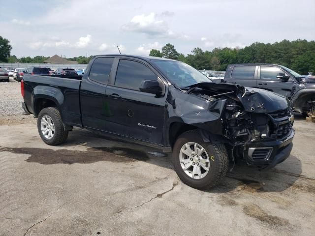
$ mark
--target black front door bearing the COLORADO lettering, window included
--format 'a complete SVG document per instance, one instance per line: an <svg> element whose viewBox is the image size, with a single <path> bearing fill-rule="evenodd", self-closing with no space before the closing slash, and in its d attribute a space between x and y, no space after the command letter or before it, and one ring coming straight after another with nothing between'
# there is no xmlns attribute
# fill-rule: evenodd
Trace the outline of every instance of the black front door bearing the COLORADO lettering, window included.
<svg viewBox="0 0 315 236"><path fill-rule="evenodd" d="M166 95L157 97L139 89L143 80L161 82L157 71L136 59L117 59L117 63L116 77L106 89L106 130L161 144ZM161 85L165 87L162 82Z"/></svg>

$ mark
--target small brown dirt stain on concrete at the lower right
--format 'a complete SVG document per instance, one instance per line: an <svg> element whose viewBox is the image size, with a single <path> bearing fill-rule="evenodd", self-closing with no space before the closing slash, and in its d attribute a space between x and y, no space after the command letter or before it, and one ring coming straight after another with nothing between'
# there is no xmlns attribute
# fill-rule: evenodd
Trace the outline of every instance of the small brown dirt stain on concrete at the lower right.
<svg viewBox="0 0 315 236"><path fill-rule="evenodd" d="M287 219L270 215L255 204L245 205L243 208L243 212L247 214L248 216L255 218L257 220L260 220L261 222L266 223L271 226L284 227L284 226L290 225Z"/></svg>

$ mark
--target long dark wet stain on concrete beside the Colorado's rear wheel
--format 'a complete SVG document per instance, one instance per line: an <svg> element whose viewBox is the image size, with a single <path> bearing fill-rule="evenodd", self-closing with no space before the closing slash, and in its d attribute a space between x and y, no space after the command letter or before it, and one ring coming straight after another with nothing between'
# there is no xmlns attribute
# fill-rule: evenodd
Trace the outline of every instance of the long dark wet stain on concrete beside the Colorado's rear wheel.
<svg viewBox="0 0 315 236"><path fill-rule="evenodd" d="M131 162L135 160L147 161L145 152L129 148L88 148L87 151L76 151L49 148L1 148L0 151L9 151L17 154L31 155L27 162L36 162L43 165L52 164L90 164L98 161ZM119 154L115 154L118 152Z"/></svg>

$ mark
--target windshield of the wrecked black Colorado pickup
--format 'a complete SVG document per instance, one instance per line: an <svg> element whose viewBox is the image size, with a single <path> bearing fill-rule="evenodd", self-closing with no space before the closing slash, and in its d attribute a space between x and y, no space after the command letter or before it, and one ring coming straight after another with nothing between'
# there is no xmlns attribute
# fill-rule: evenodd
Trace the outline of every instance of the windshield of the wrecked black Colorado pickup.
<svg viewBox="0 0 315 236"><path fill-rule="evenodd" d="M173 60L152 60L152 62L177 87L185 88L200 82L211 82L207 76L184 62Z"/></svg>

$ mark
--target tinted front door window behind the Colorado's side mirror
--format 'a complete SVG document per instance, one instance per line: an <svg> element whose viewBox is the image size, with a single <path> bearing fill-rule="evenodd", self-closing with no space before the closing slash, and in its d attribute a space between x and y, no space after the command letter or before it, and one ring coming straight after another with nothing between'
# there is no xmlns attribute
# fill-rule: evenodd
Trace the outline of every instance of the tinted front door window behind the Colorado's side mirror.
<svg viewBox="0 0 315 236"><path fill-rule="evenodd" d="M158 76L146 65L132 61L119 60L115 85L118 87L140 90L143 80L158 80Z"/></svg>

